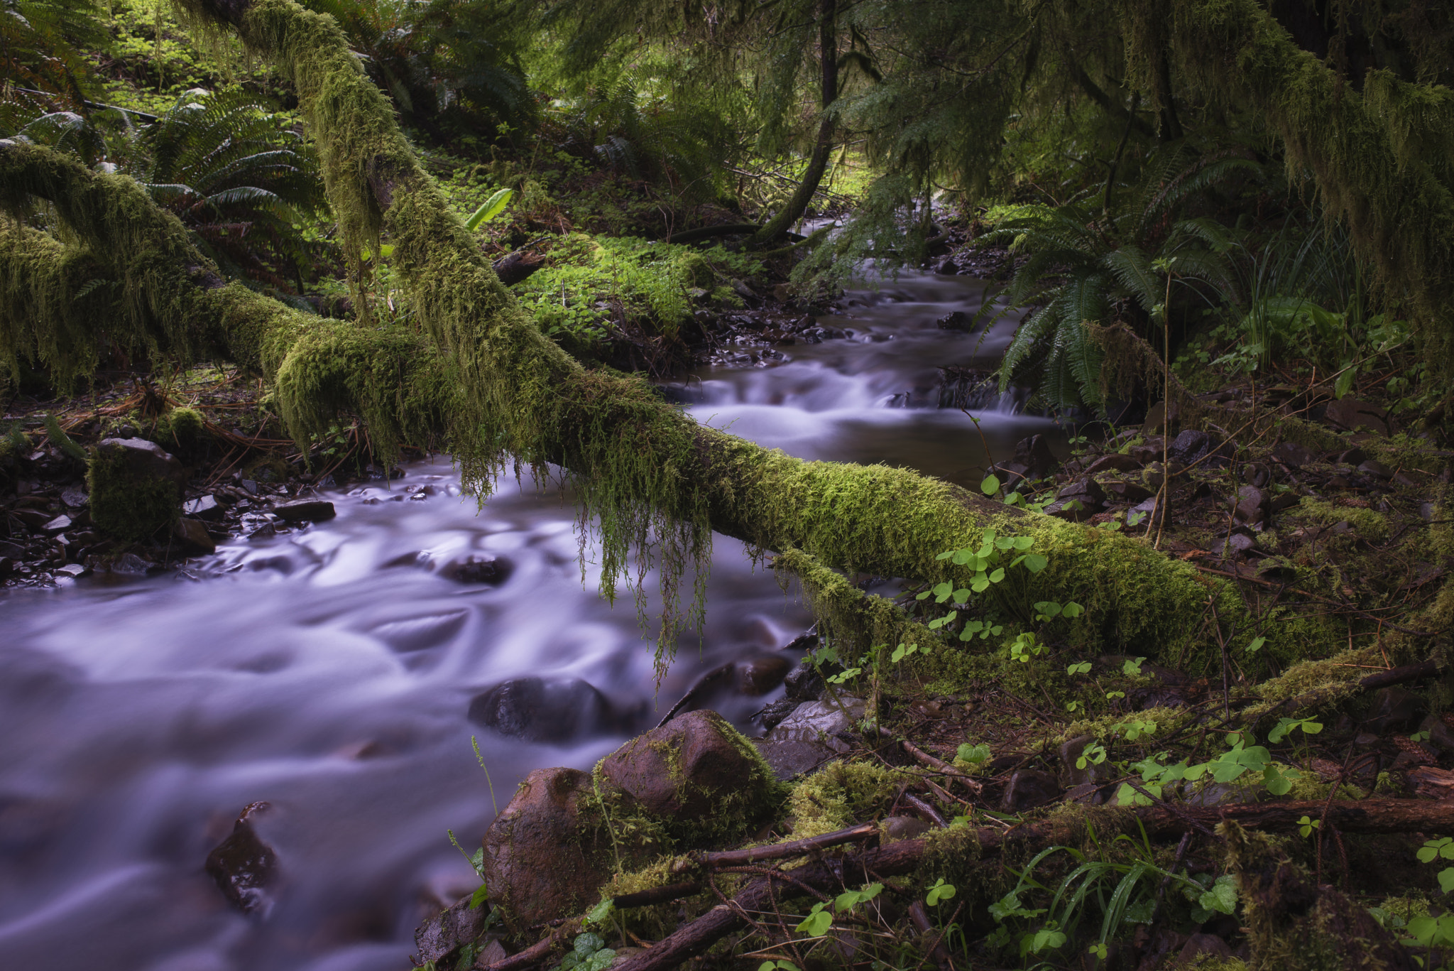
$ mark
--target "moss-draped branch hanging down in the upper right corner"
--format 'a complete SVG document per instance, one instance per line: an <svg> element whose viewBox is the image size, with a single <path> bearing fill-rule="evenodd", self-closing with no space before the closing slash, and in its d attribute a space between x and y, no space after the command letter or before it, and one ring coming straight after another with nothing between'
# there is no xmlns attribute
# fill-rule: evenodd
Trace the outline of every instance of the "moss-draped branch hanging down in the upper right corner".
<svg viewBox="0 0 1454 971"><path fill-rule="evenodd" d="M1422 357L1454 379L1454 192L1447 87L1370 71L1362 92L1297 47L1259 0L1127 0L1131 61L1147 80L1168 55L1189 80L1261 112L1346 223L1390 297L1412 301Z"/></svg>

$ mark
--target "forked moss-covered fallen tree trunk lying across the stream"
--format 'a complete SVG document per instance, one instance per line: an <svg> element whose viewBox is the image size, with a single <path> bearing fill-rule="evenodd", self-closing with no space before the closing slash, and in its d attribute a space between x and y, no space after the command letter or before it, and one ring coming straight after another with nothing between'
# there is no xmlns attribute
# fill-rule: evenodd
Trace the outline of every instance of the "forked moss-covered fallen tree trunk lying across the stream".
<svg viewBox="0 0 1454 971"><path fill-rule="evenodd" d="M192 7L238 25L254 49L295 79L350 243L368 245L375 233L390 237L439 352L409 333L318 320L238 284L218 287L180 224L150 205L134 182L70 160L63 167L61 156L44 148L0 146L0 191L12 208L49 199L90 258L132 294L126 306L134 307L135 339L176 357L215 348L273 376L294 434L305 435L348 408L365 416L375 447L387 448L398 435L442 434L481 489L493 472L515 463L566 469L583 527L599 517L603 591L611 595L618 581L640 576L653 556L660 566L663 664L675 646L678 579L698 568L699 604L712 528L759 549L814 558L811 569L810 560L798 565L813 574L819 600L835 601L845 620L859 607L843 600L849 591L838 590L817 563L964 582L964 569L936 555L977 544L986 526L1027 534L1048 556L1050 566L1027 578L1024 594L1083 604L1069 636L1088 649L1182 655L1201 668L1216 657L1200 620L1208 601L1223 623L1246 617L1232 587L1134 539L1016 512L903 469L801 461L696 425L640 379L582 368L500 285L330 19L286 0L252 7L198 0ZM28 255L41 245L33 233L12 226L6 236L0 274L7 288L58 285L44 261ZM95 339L95 328L87 330L67 306L26 304L25 346ZM15 330L15 320L7 326ZM794 555L788 560L788 568L797 562ZM877 606L869 613L877 616ZM891 633L883 623L869 626ZM1323 633L1274 629L1268 641L1287 658L1326 657L1339 638Z"/></svg>

